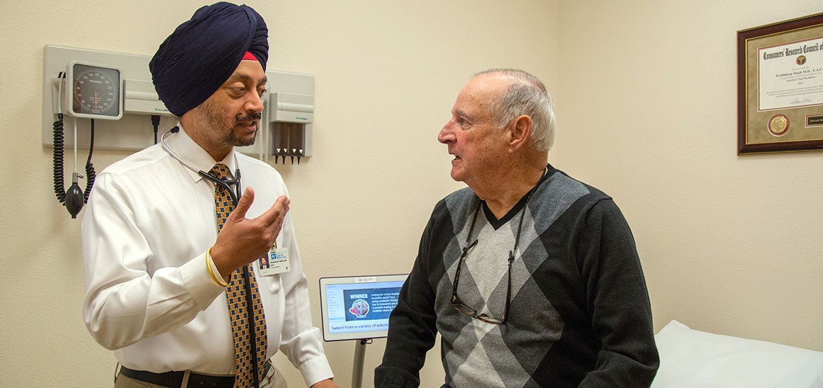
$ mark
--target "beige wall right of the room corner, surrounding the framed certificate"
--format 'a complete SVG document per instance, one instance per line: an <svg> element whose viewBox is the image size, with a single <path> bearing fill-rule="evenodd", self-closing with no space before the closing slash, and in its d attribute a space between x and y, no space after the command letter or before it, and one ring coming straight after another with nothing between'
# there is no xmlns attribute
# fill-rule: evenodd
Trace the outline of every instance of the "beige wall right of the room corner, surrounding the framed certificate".
<svg viewBox="0 0 823 388"><path fill-rule="evenodd" d="M737 30L820 6L560 2L555 157L624 211L656 329L823 350L823 153L736 154Z"/></svg>

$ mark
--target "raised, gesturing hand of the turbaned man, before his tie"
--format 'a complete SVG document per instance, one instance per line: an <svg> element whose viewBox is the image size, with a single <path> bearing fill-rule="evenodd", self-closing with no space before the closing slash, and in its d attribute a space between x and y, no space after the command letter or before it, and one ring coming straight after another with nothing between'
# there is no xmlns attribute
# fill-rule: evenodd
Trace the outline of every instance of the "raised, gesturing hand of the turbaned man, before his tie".
<svg viewBox="0 0 823 388"><path fill-rule="evenodd" d="M246 187L212 247L212 261L226 279L239 267L265 255L274 245L291 203L288 197L280 196L262 215L248 219L246 211L253 201L254 190Z"/></svg>

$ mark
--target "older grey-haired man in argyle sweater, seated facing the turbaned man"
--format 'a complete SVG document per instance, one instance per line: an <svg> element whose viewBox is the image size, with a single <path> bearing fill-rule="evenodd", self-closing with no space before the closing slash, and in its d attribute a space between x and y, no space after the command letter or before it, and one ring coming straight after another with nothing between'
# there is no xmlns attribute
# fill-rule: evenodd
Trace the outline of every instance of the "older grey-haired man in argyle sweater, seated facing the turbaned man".
<svg viewBox="0 0 823 388"><path fill-rule="evenodd" d="M438 140L467 188L435 206L389 319L377 387L419 386L441 338L444 387L643 387L658 369L629 225L610 196L548 164L537 77L477 74Z"/></svg>

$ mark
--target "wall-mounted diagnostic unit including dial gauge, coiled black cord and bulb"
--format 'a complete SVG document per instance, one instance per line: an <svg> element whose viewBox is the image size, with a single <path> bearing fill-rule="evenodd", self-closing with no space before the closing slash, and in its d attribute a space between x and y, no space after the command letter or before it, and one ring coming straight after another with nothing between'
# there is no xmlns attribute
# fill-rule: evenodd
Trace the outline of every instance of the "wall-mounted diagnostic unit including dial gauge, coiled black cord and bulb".
<svg viewBox="0 0 823 388"><path fill-rule="evenodd" d="M91 151L142 150L157 143L178 118L165 108L151 82L151 56L46 45L43 60L43 145L54 148L54 192L74 218L88 200L95 173ZM314 76L267 71L257 140L240 152L291 164L312 155ZM67 121L64 123L64 115ZM151 118L151 120L149 119ZM72 136L64 136L63 128ZM96 127L96 128L95 128ZM78 140L80 139L80 140ZM88 141L86 141L88 139ZM63 191L63 147L74 149L72 187ZM86 192L79 190L77 148L89 150ZM78 196L79 192L79 196Z"/></svg>

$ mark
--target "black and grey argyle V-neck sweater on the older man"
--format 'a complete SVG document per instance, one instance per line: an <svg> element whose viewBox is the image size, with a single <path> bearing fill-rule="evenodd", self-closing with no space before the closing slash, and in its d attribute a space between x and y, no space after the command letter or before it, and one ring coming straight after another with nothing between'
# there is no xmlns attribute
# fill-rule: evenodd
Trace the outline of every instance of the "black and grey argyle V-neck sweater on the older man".
<svg viewBox="0 0 823 388"><path fill-rule="evenodd" d="M514 250L504 325L464 315L451 303L458 259L474 240L458 297L500 319ZM389 319L374 386L419 386L437 333L445 384L455 388L636 388L650 386L659 365L629 225L611 197L551 165L531 199L524 196L502 219L469 188L439 201Z"/></svg>

